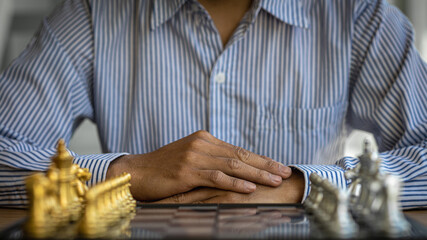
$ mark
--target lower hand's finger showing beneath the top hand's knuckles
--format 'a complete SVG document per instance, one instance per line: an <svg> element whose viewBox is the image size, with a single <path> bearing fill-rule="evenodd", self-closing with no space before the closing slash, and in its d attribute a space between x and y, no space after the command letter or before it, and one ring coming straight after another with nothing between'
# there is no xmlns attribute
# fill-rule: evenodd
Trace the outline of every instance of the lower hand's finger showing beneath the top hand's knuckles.
<svg viewBox="0 0 427 240"><path fill-rule="evenodd" d="M203 200L216 197L218 195L218 190L211 188L200 188L192 190L185 193L179 193L168 198L161 199L156 202L151 203L169 203L169 204L182 204L182 203L194 203L202 202Z"/></svg>

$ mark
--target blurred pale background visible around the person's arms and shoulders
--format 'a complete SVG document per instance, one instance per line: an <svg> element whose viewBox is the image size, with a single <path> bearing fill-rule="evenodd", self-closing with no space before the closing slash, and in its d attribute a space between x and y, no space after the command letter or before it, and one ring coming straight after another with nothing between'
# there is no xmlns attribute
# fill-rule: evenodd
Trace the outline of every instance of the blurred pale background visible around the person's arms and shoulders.
<svg viewBox="0 0 427 240"><path fill-rule="evenodd" d="M25 48L42 19L47 16L59 0L0 0L0 72ZM416 32L416 46L427 59L427 1L389 0L411 20ZM346 155L360 153L363 138L368 133L354 131L346 145ZM78 154L100 153L101 148L95 125L85 121L77 129L70 143L70 149Z"/></svg>

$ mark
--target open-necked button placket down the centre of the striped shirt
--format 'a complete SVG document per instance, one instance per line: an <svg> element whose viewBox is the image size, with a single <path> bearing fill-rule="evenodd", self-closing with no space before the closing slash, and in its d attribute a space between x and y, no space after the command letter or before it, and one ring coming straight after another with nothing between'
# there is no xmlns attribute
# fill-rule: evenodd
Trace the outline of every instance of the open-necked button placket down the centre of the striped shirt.
<svg viewBox="0 0 427 240"><path fill-rule="evenodd" d="M197 29L198 44L196 45L200 61L205 70L206 93L208 96L207 106L207 130L215 137L232 141L235 132L233 108L234 103L231 94L233 84L238 79L233 79L233 61L236 61L234 48L236 43L242 39L255 20L259 11L259 1L256 1L249 13L245 15L237 27L233 36L225 47L222 46L221 37L216 30L215 23L206 10L197 2L190 6L192 22Z"/></svg>

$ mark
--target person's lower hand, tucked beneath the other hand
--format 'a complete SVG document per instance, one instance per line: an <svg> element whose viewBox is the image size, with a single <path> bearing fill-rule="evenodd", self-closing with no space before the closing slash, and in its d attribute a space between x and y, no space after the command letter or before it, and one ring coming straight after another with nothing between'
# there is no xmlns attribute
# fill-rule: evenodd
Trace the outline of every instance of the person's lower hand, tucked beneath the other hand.
<svg viewBox="0 0 427 240"><path fill-rule="evenodd" d="M215 188L197 188L153 203L298 203L304 192L304 177L294 170L278 187L257 185L252 193L237 193Z"/></svg>

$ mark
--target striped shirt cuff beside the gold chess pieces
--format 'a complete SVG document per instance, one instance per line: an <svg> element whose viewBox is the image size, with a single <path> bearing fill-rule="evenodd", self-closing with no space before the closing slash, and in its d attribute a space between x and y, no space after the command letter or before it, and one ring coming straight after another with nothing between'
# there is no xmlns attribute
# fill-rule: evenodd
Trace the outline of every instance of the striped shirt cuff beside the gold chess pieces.
<svg viewBox="0 0 427 240"><path fill-rule="evenodd" d="M117 158L128 155L128 153L106 153L74 156L74 163L81 168L88 168L92 177L88 181L88 186L95 185L105 180L108 166Z"/></svg>

